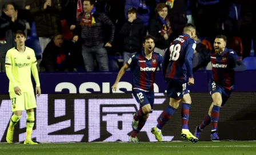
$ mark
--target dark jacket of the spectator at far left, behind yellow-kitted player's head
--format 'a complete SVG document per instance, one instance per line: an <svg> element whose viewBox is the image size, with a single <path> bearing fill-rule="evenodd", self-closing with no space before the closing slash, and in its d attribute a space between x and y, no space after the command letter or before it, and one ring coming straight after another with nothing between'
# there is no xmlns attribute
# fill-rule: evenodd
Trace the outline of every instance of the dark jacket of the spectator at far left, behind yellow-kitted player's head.
<svg viewBox="0 0 256 155"><path fill-rule="evenodd" d="M15 22L11 21L5 13L2 12L0 17L0 40L5 40L6 43L0 43L0 56L5 57L6 52L15 46L14 32L18 30L25 30L25 21L17 19Z"/></svg>

